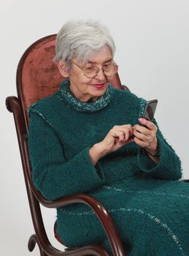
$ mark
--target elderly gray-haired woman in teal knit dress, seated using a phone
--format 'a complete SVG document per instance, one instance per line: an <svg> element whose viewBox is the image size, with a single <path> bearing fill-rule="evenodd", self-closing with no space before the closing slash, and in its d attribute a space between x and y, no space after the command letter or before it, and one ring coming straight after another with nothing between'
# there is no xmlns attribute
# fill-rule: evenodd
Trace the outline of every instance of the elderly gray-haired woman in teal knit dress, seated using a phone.
<svg viewBox="0 0 189 256"><path fill-rule="evenodd" d="M189 255L189 194L188 184L178 181L180 159L156 122L141 118L144 99L109 84L118 68L114 53L98 22L71 20L59 31L55 61L69 79L28 109L34 184L48 200L96 197L130 256ZM111 251L88 206L57 213L66 246L104 243Z"/></svg>

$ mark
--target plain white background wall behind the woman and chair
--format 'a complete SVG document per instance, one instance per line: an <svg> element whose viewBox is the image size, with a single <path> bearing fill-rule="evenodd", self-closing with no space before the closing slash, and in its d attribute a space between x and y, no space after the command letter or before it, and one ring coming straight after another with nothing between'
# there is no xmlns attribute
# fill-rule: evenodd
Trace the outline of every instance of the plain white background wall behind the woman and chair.
<svg viewBox="0 0 189 256"><path fill-rule="evenodd" d="M39 249L27 249L33 227L15 124L4 101L16 95L16 68L24 50L36 39L57 33L70 18L98 19L109 27L122 83L139 97L158 99L155 117L182 160L184 178L189 178L188 0L1 0L0 255L39 255ZM57 246L55 211L43 213Z"/></svg>

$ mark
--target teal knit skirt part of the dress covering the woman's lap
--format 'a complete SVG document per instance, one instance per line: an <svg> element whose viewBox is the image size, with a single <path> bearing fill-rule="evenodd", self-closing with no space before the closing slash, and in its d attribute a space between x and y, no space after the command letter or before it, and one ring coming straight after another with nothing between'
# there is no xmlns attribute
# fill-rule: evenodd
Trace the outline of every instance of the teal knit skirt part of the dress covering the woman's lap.
<svg viewBox="0 0 189 256"><path fill-rule="evenodd" d="M151 253L158 241L161 243L159 250L168 244L170 248L175 247L177 255L185 255L185 250L189 251L185 242L189 240L188 194L188 184L183 181L144 177L115 181L90 193L107 208L123 243L131 255L137 256L143 255L142 250L147 255L147 248ZM62 214L66 227L75 235L77 246L106 239L99 219L88 206L78 205L77 212L73 206L69 211L63 210ZM81 230L81 223L85 241L77 233ZM163 252L157 255L163 255Z"/></svg>

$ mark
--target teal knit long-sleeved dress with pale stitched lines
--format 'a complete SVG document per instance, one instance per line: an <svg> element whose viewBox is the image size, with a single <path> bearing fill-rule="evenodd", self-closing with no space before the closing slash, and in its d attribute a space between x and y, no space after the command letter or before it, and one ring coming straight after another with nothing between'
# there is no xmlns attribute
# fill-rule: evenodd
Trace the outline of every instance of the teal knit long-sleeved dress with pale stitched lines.
<svg viewBox="0 0 189 256"><path fill-rule="evenodd" d="M28 108L28 149L36 188L48 200L86 193L111 215L129 256L189 255L189 187L180 159L158 129L161 156L155 164L128 143L94 166L89 148L115 125L138 123L145 101L108 86L96 102L80 102L60 90ZM156 124L156 123L155 123ZM157 125L157 124L156 124ZM57 209L58 233L69 247L104 243L99 219L81 203Z"/></svg>

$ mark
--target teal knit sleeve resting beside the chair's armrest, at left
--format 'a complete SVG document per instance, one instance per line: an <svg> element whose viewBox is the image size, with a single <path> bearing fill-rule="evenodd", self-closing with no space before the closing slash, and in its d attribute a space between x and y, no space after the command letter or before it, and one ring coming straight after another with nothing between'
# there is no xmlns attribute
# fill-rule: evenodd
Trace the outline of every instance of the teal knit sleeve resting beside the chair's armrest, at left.
<svg viewBox="0 0 189 256"><path fill-rule="evenodd" d="M58 135L37 113L30 113L28 151L34 185L47 200L87 192L104 184L101 165L93 165L89 148L66 161Z"/></svg>

